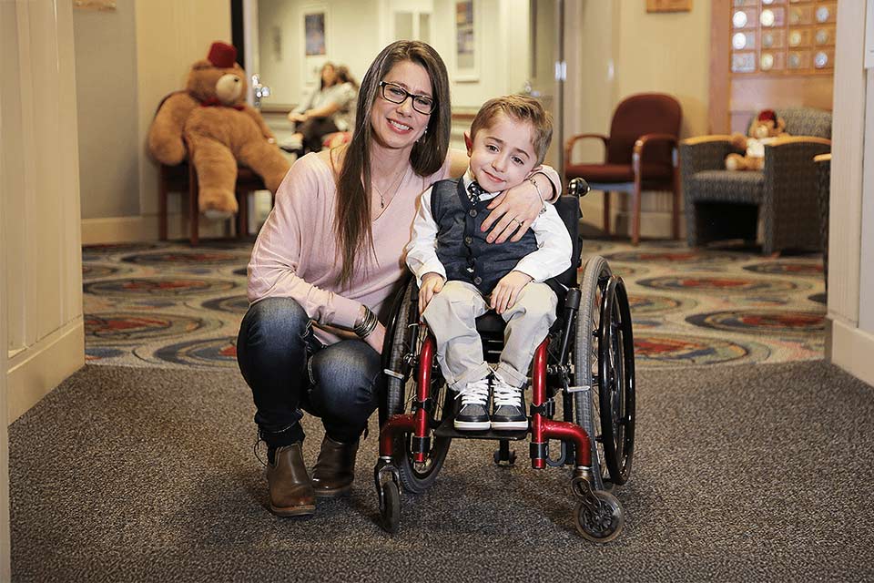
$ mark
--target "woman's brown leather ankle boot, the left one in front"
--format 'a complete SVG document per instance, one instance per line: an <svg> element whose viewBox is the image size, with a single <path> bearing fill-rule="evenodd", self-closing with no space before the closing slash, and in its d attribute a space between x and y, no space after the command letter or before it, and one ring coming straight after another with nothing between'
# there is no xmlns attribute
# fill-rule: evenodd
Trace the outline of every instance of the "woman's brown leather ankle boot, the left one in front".
<svg viewBox="0 0 874 583"><path fill-rule="evenodd" d="M300 517L316 512L310 475L303 463L300 444L277 448L273 464L267 464L270 511L279 517Z"/></svg>

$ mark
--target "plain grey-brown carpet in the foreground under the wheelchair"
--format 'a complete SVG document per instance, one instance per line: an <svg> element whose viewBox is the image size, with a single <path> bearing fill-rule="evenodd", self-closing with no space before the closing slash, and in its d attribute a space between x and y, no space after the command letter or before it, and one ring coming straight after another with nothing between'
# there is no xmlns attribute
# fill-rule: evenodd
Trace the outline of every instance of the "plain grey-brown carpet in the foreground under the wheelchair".
<svg viewBox="0 0 874 583"><path fill-rule="evenodd" d="M15 581L874 578L874 389L823 362L638 373L625 529L575 533L568 474L453 443L438 483L376 524L352 495L265 509L239 374L88 366L10 427ZM321 430L308 420L306 454ZM372 427L371 427L372 429Z"/></svg>

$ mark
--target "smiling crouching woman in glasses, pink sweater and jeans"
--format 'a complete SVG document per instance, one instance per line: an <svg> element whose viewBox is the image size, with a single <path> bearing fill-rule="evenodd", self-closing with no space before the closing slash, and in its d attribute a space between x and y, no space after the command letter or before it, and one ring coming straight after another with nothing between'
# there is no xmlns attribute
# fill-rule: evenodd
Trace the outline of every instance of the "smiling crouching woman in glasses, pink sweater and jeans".
<svg viewBox="0 0 874 583"><path fill-rule="evenodd" d="M252 304L237 342L268 445L269 507L279 516L312 514L314 496L351 489L359 438L377 407L382 322L404 275L416 199L467 169L462 152L448 151L450 124L440 56L420 42L396 42L361 82L351 143L303 157L279 186L252 250ZM534 175L544 192L558 183L547 172L551 179ZM493 205L483 228L503 242L522 237L541 200L526 182ZM325 426L311 479L302 410Z"/></svg>

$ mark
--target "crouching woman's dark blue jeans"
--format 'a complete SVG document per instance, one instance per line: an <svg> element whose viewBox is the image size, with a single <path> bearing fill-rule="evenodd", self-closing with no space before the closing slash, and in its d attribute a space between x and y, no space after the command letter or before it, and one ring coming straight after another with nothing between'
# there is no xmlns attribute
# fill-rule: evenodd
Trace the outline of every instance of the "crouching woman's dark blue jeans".
<svg viewBox="0 0 874 583"><path fill-rule="evenodd" d="M269 446L303 440L303 411L321 417L334 441L351 443L376 410L379 353L360 340L322 345L307 312L290 298L249 306L237 337L237 363Z"/></svg>

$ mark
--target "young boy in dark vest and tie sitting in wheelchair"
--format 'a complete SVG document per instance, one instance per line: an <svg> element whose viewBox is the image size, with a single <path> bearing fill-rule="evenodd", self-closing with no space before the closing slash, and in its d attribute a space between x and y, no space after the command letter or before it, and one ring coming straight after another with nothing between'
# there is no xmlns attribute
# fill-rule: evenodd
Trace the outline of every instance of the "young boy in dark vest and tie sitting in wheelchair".
<svg viewBox="0 0 874 583"><path fill-rule="evenodd" d="M540 168L552 134L552 119L530 97L486 102L464 137L471 157L467 173L426 190L413 222L407 265L419 281L419 309L437 341L437 361L458 393L459 430L528 426L528 369L555 321L557 303L544 281L570 266L571 238L550 204L517 242L488 243L480 227L491 199ZM483 358L474 322L489 309L507 322L494 371Z"/></svg>

